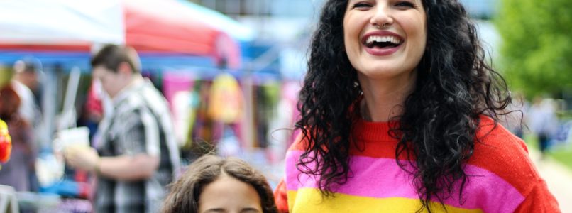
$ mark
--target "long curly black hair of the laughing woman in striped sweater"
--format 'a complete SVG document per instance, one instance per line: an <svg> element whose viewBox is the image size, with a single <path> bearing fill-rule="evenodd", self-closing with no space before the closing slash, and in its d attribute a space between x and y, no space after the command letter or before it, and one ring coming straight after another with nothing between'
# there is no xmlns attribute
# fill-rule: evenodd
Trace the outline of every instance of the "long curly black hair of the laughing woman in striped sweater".
<svg viewBox="0 0 572 213"><path fill-rule="evenodd" d="M404 112L390 135L400 142L397 156L406 155L422 208L429 201L453 196L460 182L461 201L467 174L463 167L478 142L480 115L497 121L511 102L505 80L485 63L484 50L472 23L456 0L423 0L427 13L427 47L417 66L417 82L405 100ZM351 131L361 99L356 70L343 43L347 0L326 1L309 49L308 72L300 92L301 119L296 128L309 141L297 168L319 175L322 195L351 176ZM314 165L315 163L315 165ZM409 168L414 168L413 170ZM456 196L456 195L454 195Z"/></svg>

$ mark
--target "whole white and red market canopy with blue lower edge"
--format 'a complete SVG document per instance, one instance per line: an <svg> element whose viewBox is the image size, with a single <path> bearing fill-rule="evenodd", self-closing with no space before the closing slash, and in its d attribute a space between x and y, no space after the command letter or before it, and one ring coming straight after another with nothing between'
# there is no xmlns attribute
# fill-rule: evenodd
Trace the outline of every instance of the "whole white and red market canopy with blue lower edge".
<svg viewBox="0 0 572 213"><path fill-rule="evenodd" d="M142 53L144 67L238 67L238 43L189 13L175 0L0 1L0 62L33 55L85 70L92 45L126 43Z"/></svg>

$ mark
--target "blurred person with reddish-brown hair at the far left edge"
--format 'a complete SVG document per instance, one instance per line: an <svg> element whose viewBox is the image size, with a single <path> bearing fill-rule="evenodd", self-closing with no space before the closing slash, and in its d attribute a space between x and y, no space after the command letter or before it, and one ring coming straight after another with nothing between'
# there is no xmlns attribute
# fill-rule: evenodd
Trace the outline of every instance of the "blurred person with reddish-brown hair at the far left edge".
<svg viewBox="0 0 572 213"><path fill-rule="evenodd" d="M30 124L18 113L21 99L11 84L0 90L0 119L8 124L12 138L10 160L0 170L0 185L10 185L16 191L31 190L31 174L34 172L36 146Z"/></svg>

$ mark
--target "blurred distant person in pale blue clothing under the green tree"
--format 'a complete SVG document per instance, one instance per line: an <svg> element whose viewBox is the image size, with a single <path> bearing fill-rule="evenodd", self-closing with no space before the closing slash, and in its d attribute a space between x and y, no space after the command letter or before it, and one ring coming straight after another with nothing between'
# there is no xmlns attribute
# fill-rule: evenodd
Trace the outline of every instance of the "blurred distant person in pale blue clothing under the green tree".
<svg viewBox="0 0 572 213"><path fill-rule="evenodd" d="M540 150L540 159L544 159L546 149L558 129L558 119L556 118L556 107L551 99L534 97L532 106L527 111L527 125L530 131L537 137Z"/></svg>

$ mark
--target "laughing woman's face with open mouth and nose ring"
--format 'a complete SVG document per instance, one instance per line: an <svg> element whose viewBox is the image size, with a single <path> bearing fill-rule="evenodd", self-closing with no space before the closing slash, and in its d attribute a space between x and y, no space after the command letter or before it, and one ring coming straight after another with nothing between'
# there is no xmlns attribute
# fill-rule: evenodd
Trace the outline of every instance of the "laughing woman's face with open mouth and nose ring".
<svg viewBox="0 0 572 213"><path fill-rule="evenodd" d="M343 39L358 75L378 79L410 74L427 42L422 0L350 0Z"/></svg>

